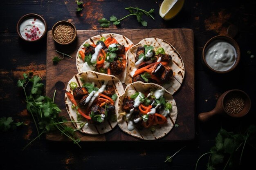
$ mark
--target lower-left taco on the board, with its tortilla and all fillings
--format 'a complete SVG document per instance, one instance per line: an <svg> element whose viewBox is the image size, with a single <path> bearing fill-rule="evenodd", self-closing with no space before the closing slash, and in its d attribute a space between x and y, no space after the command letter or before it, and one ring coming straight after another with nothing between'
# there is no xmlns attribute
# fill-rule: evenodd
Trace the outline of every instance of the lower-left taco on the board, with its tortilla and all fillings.
<svg viewBox="0 0 256 170"><path fill-rule="evenodd" d="M83 133L106 133L117 125L118 97L123 93L123 85L113 75L95 71L78 73L67 84L68 115Z"/></svg>

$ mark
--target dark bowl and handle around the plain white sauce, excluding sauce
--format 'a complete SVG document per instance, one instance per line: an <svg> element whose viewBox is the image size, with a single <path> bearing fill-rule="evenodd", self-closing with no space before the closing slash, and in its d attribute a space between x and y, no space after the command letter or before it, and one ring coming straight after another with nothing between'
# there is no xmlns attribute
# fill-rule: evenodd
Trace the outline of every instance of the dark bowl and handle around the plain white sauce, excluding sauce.
<svg viewBox="0 0 256 170"><path fill-rule="evenodd" d="M218 36L215 36L213 38L211 38L209 41L207 41L207 43L204 45L204 49L202 51L202 63L204 66L206 66L206 68L214 73L229 73L230 71L234 70L236 68L236 66L238 65L239 61L240 61L240 48L237 44L237 42L233 39L233 37L236 35L237 31L236 30L237 28L234 26L234 25L231 25L229 26L229 28L227 29L227 35L218 35ZM209 48L209 44L211 45L212 42L214 41L225 41L225 42L228 42L229 44L231 44L232 46L234 46L235 50L236 50L236 61L234 63L234 65L229 68L228 70L226 71L217 71L213 68L211 68L206 60L205 60L205 53L206 51L208 50Z"/></svg>

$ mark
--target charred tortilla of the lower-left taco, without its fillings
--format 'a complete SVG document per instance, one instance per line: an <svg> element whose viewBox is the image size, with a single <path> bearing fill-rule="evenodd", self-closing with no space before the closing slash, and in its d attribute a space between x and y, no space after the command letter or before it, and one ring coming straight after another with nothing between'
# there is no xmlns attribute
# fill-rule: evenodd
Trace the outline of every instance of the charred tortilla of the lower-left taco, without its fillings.
<svg viewBox="0 0 256 170"><path fill-rule="evenodd" d="M122 83L120 82L120 80L113 75L106 75L106 74L102 74L102 73L97 73L95 71L84 71L84 72L74 75L74 77L72 77L72 79L70 79L70 81L67 84L66 91L73 94L73 90L70 87L70 83L76 82L78 84L78 87L81 87L83 85L83 83L81 82L81 79L83 79L83 82L87 82L87 83L94 82L95 84L97 84L97 87L99 87L99 88L103 84L102 80L104 80L104 81L107 80L108 85L114 86L115 93L117 94L117 99L115 101L115 109L116 109L115 114L117 115L117 111L119 108L118 107L118 98L120 95L122 95L124 93L124 87L123 87ZM67 113L70 116L70 119L72 121L78 121L77 120L78 114L76 113L76 109L72 108L72 102L70 101L70 99L67 97L66 94L65 94L65 104L66 104ZM82 120L79 120L79 122L86 123L87 120L84 118ZM104 120L102 123L99 123L99 124L90 124L90 122L89 122L88 126L84 125L83 127L80 127L81 126L80 123L74 123L74 126L77 129L79 129L79 131L81 131L83 133L87 133L87 134L92 134L92 135L103 134L103 133L109 132L116 125L117 125L117 121L111 121L109 119Z"/></svg>

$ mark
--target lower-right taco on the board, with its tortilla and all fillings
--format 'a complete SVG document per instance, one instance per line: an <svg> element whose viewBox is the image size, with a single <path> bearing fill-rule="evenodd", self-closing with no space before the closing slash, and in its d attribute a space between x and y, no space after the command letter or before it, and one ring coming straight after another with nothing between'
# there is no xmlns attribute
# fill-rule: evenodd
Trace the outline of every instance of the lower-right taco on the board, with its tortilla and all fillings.
<svg viewBox="0 0 256 170"><path fill-rule="evenodd" d="M134 82L119 97L121 130L144 140L164 137L173 128L177 106L171 93L154 83Z"/></svg>

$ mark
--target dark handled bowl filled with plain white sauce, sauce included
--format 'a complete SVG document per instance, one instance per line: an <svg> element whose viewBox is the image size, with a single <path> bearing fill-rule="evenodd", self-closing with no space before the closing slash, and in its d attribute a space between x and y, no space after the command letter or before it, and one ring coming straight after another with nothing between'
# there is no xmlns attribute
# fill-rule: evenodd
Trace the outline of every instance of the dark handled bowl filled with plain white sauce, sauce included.
<svg viewBox="0 0 256 170"><path fill-rule="evenodd" d="M211 38L202 51L202 62L215 73L228 73L236 68L240 61L240 48L233 39L236 27L229 27L227 35ZM232 30L232 31L231 31Z"/></svg>

